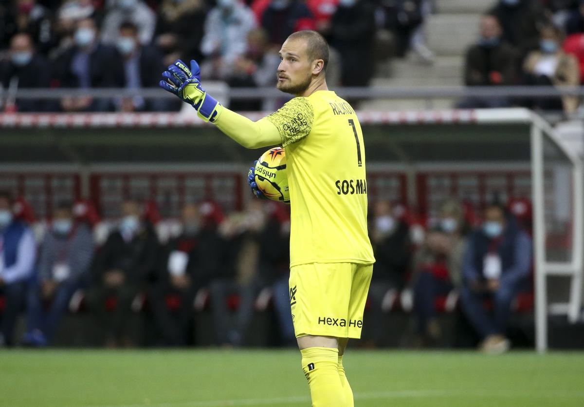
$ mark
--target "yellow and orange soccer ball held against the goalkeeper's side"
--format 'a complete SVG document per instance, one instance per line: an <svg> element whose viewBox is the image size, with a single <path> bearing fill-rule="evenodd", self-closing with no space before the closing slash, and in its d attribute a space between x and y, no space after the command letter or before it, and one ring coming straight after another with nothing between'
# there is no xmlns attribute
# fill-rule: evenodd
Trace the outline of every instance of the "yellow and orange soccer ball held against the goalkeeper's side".
<svg viewBox="0 0 584 407"><path fill-rule="evenodd" d="M290 204L284 149L274 147L259 157L255 166L255 181L258 184L258 189L266 198Z"/></svg>

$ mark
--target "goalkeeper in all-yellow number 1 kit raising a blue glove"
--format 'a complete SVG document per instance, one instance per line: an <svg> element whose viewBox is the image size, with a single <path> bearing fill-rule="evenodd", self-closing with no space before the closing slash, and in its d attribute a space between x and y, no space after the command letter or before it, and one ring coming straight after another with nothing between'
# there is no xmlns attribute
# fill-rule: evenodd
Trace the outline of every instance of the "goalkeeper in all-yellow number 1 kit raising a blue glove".
<svg viewBox="0 0 584 407"><path fill-rule="evenodd" d="M365 151L352 107L326 87L329 50L314 31L288 37L277 88L296 96L257 122L205 92L199 65L168 67L160 85L249 149L286 149L291 202L290 308L314 407L353 406L343 368L349 338L363 327L375 261L367 235ZM254 194L262 194L253 182Z"/></svg>

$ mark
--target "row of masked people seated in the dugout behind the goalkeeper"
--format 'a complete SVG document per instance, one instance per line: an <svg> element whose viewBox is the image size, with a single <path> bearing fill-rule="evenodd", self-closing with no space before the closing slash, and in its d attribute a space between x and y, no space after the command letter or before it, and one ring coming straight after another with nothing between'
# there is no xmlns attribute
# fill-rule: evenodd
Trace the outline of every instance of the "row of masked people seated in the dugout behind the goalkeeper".
<svg viewBox="0 0 584 407"><path fill-rule="evenodd" d="M531 290L529 203L520 204L513 206L520 212L489 204L478 216L470 205L448 199L435 219L422 222L403 205L377 202L370 211L377 262L367 345L383 346L388 312L405 301L399 293L410 292L410 345L439 343L444 328L437 315L444 309L437 304L460 297L461 315L482 349L508 349L512 302ZM197 311L209 309L214 343L246 346L254 342L256 312L268 306L279 327L277 342L295 343L286 205L254 200L226 215L213 202L186 204L166 234L155 206L135 199L121 203L107 233L98 233L96 211L87 203L81 209L56 205L43 233L33 233L19 205L20 212L13 210L11 196L0 193L1 344L47 346L65 313L81 309L104 333L106 346L143 343L134 342L128 323L137 310L151 319L150 344L187 346L196 344ZM15 325L22 309L20 336Z"/></svg>

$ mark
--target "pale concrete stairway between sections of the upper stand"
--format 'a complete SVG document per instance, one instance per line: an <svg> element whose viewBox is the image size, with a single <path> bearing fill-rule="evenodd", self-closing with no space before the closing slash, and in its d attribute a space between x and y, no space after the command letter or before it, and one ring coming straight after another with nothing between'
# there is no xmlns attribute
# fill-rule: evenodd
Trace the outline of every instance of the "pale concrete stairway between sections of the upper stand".
<svg viewBox="0 0 584 407"><path fill-rule="evenodd" d="M436 54L432 65L410 55L391 62L391 76L375 78L374 87L439 87L463 84L464 53L478 37L481 14L496 0L436 0L436 10L426 22L426 44ZM361 109L447 109L453 99L364 102Z"/></svg>

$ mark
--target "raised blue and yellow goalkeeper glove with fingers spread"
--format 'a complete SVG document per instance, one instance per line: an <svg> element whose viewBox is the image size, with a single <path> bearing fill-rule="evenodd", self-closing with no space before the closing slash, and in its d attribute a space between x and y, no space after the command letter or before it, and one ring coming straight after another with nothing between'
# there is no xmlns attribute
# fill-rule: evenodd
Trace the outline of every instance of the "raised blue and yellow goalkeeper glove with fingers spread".
<svg viewBox="0 0 584 407"><path fill-rule="evenodd" d="M211 123L217 119L221 105L201 86L201 70L197 61L190 61L189 70L183 61L176 60L162 73L162 78L159 82L161 88L192 105L201 119Z"/></svg>

